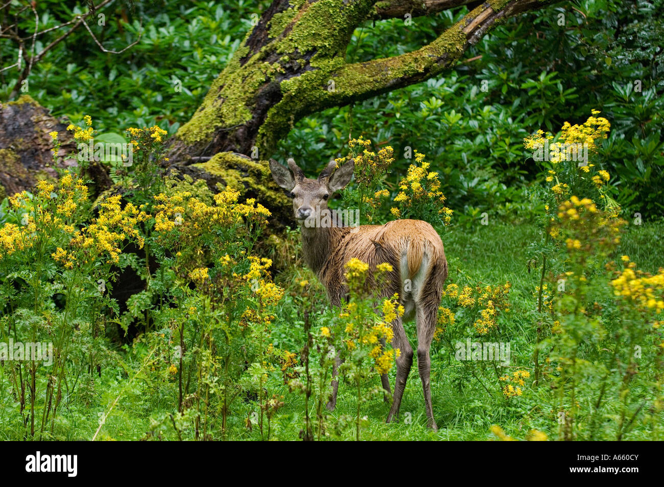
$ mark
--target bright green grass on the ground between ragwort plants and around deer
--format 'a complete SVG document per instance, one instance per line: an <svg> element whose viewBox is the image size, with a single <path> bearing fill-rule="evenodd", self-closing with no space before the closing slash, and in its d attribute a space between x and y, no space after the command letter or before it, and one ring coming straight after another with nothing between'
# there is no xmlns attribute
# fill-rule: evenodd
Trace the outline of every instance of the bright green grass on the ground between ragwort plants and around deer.
<svg viewBox="0 0 664 487"><path fill-rule="evenodd" d="M664 235L662 223L646 223L641 227L631 226L627 231L618 254L628 254L639 264L639 268L655 271L664 266L664 252L661 252L661 236ZM533 341L535 340L535 286L539 282L537 271L529 272L526 264L525 247L538 234L534 225L488 225L479 226L474 230L457 230L444 237L446 254L450 262L448 283L482 282L484 284L512 284L510 292L511 310L499 322L505 340L511 343L511 364L522 369L533 369ZM659 250L658 250L659 249ZM289 284L291 295L296 292L294 278L303 276L315 279L307 270L291 269L278 276L282 285ZM321 291L318 288L319 292ZM320 297L320 296L319 296ZM296 309L292 300L287 300L276 321L273 332L275 345L299 351L304 341L301 310ZM317 330L324 323L313 324ZM412 345L414 340L414 322L406 325ZM120 351L120 350L119 350ZM131 354L124 353L127 361ZM137 354L136 361L140 360ZM492 425L500 425L509 435L523 439L532 429L537 429L556 438L555 408L551 403L551 394L546 388L534 389L527 384L523 396L506 400L500 392L499 385L490 383L485 376L473 376L469 369L459 364L443 346L442 341L434 341L432 345L432 397L434 400L434 416L439 431L426 428L422 383L416 364L413 365L408 377L408 384L401 405L400 424L386 424L385 418L389 405L380 397L374 397L363 405L362 413L367 421L362 431L365 440L487 440L495 439L491 433ZM390 373L394 384L394 369ZM177 409L177 387L170 383L167 387L155 383L143 383L140 380L129 381L129 377L121 369L108 367L98 379L87 403L77 403L63 416L57 430L62 439L89 439L94 435L99 416L107 411L108 405L118 398L106 424L98 438L138 439L145 437L151 429L157 437L177 439L175 431L167 420L168 414ZM494 377L495 379L495 377ZM6 382L0 380L0 383ZM363 393L380 384L375 375L367 384ZM271 425L272 439L295 440L303 425L303 397L288 391L280 374L270 377L267 388L270 393L284 396L284 407L274 417ZM341 383L337 409L330 413L329 433L340 439L353 439L353 425L340 428L336 433L333 425L345 416L355 415L356 391L349 383ZM5 397L5 399L2 399ZM0 411L2 402L9 400L0 391ZM312 399L313 401L313 399ZM246 413L252 409L250 402L238 399L236 411ZM607 406L607 415L611 416L614 403ZM660 417L661 419L661 417ZM7 417L0 412L1 438L16 438L20 428L19 417ZM248 431L244 427L245 417L236 414L229 420L232 439L258 439L258 429ZM156 426L155 426L156 425ZM625 439L651 439L652 425L639 423L631 429ZM183 431L183 438L191 438L191 428ZM212 431L212 438L220 439L219 431Z"/></svg>

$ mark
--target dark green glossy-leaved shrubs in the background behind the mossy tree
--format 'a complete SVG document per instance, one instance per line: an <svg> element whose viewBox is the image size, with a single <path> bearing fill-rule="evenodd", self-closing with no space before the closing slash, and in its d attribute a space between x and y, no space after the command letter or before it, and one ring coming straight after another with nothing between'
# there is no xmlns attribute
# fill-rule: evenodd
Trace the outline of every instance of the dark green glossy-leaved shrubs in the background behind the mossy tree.
<svg viewBox="0 0 664 487"><path fill-rule="evenodd" d="M84 11L78 2L48 4L42 29ZM94 106L101 132L156 123L173 134L268 5L112 4L114 15L96 28L100 42L116 51L139 43L106 54L84 29L76 31L33 68L29 94L74 122ZM614 123L602 154L613 169L611 184L620 189L618 201L657 217L664 178L662 7L661 0L579 1L574 9L554 6L511 19L447 76L301 120L279 155L296 155L315 171L329 157L345 155L351 134L390 144L395 169L405 173L407 148L416 147L441 171L442 190L464 214L493 209L530 216L524 186L538 170L521 140L539 129L558 130L565 120L582 122L597 109ZM347 57L362 61L417 49L465 11L417 17L412 25L367 23ZM34 19L25 16L21 25L30 33ZM38 41L37 50L42 47ZM1 43L0 50L13 62L15 46ZM0 73L1 96L20 94L16 82L11 71Z"/></svg>

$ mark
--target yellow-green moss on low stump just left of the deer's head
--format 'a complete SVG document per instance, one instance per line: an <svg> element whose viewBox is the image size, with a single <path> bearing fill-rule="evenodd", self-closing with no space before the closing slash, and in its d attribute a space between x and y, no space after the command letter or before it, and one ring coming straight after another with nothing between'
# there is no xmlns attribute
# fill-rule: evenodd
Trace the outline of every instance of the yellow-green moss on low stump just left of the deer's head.
<svg viewBox="0 0 664 487"><path fill-rule="evenodd" d="M267 161L255 161L232 152L220 152L207 162L195 164L223 181L223 187L232 187L242 196L250 193L267 207L288 207L290 200L270 175Z"/></svg>

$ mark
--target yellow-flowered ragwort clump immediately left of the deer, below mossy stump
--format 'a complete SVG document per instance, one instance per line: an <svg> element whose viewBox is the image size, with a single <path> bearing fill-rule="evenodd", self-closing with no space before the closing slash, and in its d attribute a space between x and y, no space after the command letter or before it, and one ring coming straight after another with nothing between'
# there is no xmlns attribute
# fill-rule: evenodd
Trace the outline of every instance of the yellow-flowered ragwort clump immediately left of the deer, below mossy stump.
<svg viewBox="0 0 664 487"><path fill-rule="evenodd" d="M155 196L154 243L174 288L173 308L157 319L179 343L179 410L195 410L197 439L209 438L216 417L226 437L240 396L257 406L242 413L246 427L256 423L268 439L282 405L265 385L283 355L269 336L284 291L271 281L272 261L251 253L270 213L252 199L238 203L239 194L227 187L214 205L186 191ZM188 319L178 320L183 312Z"/></svg>

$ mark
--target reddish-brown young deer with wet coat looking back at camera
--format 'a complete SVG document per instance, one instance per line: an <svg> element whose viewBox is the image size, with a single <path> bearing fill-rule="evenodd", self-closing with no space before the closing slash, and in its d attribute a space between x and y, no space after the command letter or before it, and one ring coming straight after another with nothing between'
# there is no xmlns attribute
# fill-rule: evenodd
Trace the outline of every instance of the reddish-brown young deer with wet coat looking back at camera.
<svg viewBox="0 0 664 487"><path fill-rule="evenodd" d="M344 266L351 258L359 258L369 264L370 272L382 262L392 266L389 279L382 284L384 288L376 289L380 297L398 293L399 304L404 306L403 316L391 324L391 345L399 349L400 354L396 358L394 395L386 422L398 421L399 418L399 407L413 359L413 349L403 322L415 318L417 362L428 427L437 430L431 399L430 346L436 330L443 285L448 276L448 262L440 235L429 223L410 219L356 227L339 226L334 218L331 225L307 224L307 219L310 223L316 211L321 214L329 211L327 202L333 193L351 181L355 161L350 159L338 168L334 160L330 161L317 179L305 177L294 159L288 159L287 163L288 168L270 159L272 178L293 200L294 217L301 227L303 258L325 286L332 306L339 308L345 302ZM339 382L335 376L339 365L337 358L332 372L332 393L327 403L327 409L331 411L337 402ZM382 374L380 381L386 394L391 395L388 375Z"/></svg>

